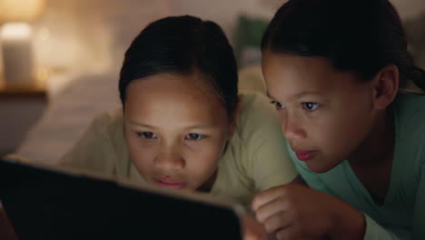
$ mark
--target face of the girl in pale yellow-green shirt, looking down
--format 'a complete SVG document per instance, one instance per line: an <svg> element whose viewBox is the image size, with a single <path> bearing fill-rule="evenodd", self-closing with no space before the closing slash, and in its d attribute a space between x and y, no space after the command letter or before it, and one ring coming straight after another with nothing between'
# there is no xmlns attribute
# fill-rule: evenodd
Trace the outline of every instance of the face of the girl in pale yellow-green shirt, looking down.
<svg viewBox="0 0 425 240"><path fill-rule="evenodd" d="M152 75L127 87L124 134L143 179L171 189L209 191L233 125L202 75Z"/></svg>

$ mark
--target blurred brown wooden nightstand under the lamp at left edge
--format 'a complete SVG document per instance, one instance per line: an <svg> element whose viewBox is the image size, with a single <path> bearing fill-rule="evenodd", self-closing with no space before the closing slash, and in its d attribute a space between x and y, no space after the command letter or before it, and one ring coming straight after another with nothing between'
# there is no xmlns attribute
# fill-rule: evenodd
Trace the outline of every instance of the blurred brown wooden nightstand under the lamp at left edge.
<svg viewBox="0 0 425 240"><path fill-rule="evenodd" d="M46 104L45 80L35 85L6 85L0 79L0 155L15 151Z"/></svg>

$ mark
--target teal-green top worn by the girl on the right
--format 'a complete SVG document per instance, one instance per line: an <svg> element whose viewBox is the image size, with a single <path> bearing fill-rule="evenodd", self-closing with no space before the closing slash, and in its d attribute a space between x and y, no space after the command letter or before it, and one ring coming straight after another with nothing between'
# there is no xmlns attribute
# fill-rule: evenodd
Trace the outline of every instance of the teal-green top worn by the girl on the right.
<svg viewBox="0 0 425 240"><path fill-rule="evenodd" d="M395 150L390 188L378 205L344 161L316 174L289 149L299 173L312 188L335 195L366 215L364 239L425 239L425 96L397 95L392 104ZM388 230L390 229L390 230Z"/></svg>

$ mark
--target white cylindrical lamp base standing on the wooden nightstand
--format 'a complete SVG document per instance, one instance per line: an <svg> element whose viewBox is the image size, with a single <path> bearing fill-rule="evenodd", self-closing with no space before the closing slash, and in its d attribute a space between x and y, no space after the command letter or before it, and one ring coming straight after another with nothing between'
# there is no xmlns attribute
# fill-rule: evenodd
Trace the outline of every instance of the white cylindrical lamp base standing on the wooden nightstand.
<svg viewBox="0 0 425 240"><path fill-rule="evenodd" d="M2 28L1 38L7 85L33 84L31 27L25 23L8 23Z"/></svg>

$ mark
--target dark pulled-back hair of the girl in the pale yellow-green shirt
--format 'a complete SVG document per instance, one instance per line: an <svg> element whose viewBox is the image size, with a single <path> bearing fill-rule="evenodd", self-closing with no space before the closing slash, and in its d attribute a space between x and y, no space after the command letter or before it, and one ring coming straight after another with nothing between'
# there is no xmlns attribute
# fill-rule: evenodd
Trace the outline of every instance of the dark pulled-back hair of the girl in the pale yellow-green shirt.
<svg viewBox="0 0 425 240"><path fill-rule="evenodd" d="M136 79L157 74L189 75L199 71L218 95L232 120L238 101L238 75L232 46L222 28L198 17L170 16L147 25L124 56L119 90Z"/></svg>

